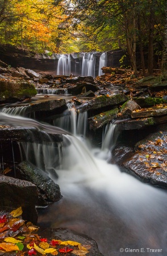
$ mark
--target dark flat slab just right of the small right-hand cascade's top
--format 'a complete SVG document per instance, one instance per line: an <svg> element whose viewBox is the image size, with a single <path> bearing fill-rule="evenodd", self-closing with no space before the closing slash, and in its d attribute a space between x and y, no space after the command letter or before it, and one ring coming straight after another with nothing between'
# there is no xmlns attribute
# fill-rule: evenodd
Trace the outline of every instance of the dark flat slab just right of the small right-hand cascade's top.
<svg viewBox="0 0 167 256"><path fill-rule="evenodd" d="M135 130L141 129L147 126L155 125L156 121L153 117L140 118L140 119L125 119L123 121L118 121L118 130Z"/></svg>

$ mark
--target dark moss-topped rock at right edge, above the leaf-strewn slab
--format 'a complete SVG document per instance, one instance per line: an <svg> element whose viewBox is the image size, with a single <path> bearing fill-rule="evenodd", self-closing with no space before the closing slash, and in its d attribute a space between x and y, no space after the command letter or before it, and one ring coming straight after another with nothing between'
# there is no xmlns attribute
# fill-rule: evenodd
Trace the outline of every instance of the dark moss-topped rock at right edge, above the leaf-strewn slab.
<svg viewBox="0 0 167 256"><path fill-rule="evenodd" d="M135 101L141 108L148 108L150 106L167 103L167 100L164 98L156 97L133 97L133 101Z"/></svg>

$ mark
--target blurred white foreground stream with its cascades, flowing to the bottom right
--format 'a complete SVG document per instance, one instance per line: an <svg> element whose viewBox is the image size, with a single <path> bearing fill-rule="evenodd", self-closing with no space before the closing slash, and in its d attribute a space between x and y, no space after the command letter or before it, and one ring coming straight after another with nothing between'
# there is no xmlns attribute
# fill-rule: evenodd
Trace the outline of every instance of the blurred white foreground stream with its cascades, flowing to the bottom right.
<svg viewBox="0 0 167 256"><path fill-rule="evenodd" d="M102 149L95 149L88 139L83 139L86 128L77 130L79 117L76 117L70 106L68 111L73 112L65 115L73 123L70 132L76 136L33 119L0 113L0 123L3 125L35 127L44 133L63 134L64 158L60 166L55 164L57 156L52 151L52 143L46 147L41 142L45 166L54 168L58 174L59 178L55 182L60 185L63 197L58 203L39 210L38 224L51 228L71 228L85 233L97 241L99 250L105 256L165 256L166 192L141 183L135 177L120 172L117 166L107 163L108 153L115 143L111 139L116 136L115 125L111 124L104 133ZM84 126L85 119L81 119ZM57 123L55 121L56 125L59 123L60 120ZM78 133L82 137L77 137ZM27 150L27 156L31 151L36 159L40 159L39 150L31 143L24 143L24 150ZM36 165L40 167L39 160ZM124 249L123 253L120 248ZM131 253L130 249L136 251ZM160 249L161 253L153 253L150 249Z"/></svg>

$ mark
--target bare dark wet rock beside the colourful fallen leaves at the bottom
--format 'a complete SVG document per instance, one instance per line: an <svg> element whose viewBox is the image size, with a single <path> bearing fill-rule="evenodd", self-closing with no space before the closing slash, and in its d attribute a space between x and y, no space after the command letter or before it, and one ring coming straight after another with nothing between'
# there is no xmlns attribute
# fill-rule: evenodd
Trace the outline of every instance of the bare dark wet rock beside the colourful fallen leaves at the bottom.
<svg viewBox="0 0 167 256"><path fill-rule="evenodd" d="M87 256L103 256L98 249L97 243L92 238L85 236L84 234L74 232L70 229L39 229L38 234L41 237L47 237L48 240L76 241L82 245L91 246L89 253L86 254ZM69 253L69 255L71 255L71 253Z"/></svg>

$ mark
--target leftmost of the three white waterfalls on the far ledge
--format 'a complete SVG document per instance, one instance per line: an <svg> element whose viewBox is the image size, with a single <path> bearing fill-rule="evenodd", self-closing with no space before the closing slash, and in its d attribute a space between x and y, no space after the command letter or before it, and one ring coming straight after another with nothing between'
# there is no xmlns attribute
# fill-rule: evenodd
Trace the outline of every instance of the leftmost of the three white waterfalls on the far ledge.
<svg viewBox="0 0 167 256"><path fill-rule="evenodd" d="M61 54L57 64L57 75L70 75L70 54Z"/></svg>

